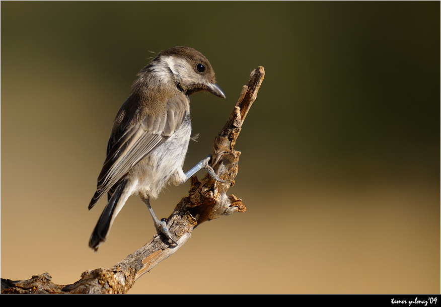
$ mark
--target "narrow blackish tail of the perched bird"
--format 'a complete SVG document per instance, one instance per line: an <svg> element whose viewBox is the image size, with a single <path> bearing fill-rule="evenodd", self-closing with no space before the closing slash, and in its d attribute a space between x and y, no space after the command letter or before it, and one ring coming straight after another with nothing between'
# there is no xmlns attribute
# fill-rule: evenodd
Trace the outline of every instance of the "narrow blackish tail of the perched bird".
<svg viewBox="0 0 441 307"><path fill-rule="evenodd" d="M99 246L106 241L107 235L110 230L110 223L112 221L113 214L115 212L116 205L118 204L119 198L127 184L127 180L121 181L118 187L113 192L112 197L109 199L103 213L101 213L100 219L95 226L95 229L90 237L89 246L91 249L98 251Z"/></svg>

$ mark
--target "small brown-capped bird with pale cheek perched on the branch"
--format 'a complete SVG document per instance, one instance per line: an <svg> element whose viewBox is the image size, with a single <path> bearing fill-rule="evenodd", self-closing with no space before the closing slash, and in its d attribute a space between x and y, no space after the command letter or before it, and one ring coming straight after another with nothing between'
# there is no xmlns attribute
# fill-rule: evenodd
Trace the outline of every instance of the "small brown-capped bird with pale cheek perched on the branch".
<svg viewBox="0 0 441 307"><path fill-rule="evenodd" d="M182 169L191 138L189 96L205 91L226 98L205 56L190 47L163 50L137 77L113 122L97 190L89 204L90 210L107 194L107 205L89 241L95 252L106 241L127 199L135 194L148 207L157 231L177 245L150 200L158 198L167 184L184 183L200 169L224 182L209 166L210 156L187 173Z"/></svg>

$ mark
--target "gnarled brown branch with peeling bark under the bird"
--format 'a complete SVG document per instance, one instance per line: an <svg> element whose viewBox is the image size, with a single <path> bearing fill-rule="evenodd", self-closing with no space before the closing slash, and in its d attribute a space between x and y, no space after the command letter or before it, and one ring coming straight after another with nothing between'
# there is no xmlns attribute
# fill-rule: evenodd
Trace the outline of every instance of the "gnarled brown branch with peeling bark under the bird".
<svg viewBox="0 0 441 307"><path fill-rule="evenodd" d="M171 245L164 235L156 234L149 243L113 267L83 272L76 283L56 285L48 273L21 281L2 278L2 293L126 293L139 277L183 246L197 225L235 212L245 212L242 200L234 195L227 196L227 191L234 185L238 173L241 153L234 149L236 139L256 100L264 75L262 66L251 72L248 85L243 86L233 112L214 140L211 167L225 182L215 181L208 174L201 181L192 177L189 195L178 203L168 218L168 227L177 238L177 246Z"/></svg>

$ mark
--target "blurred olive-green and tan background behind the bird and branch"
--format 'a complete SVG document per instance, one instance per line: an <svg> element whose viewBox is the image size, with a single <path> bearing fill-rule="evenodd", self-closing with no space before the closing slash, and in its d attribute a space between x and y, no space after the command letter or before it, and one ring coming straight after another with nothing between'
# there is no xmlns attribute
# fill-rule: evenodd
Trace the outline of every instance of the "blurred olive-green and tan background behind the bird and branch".
<svg viewBox="0 0 441 307"><path fill-rule="evenodd" d="M130 293L439 293L439 2L2 2L1 276L58 284L148 242L137 196L97 253L87 206L113 119L154 54L190 46L226 100L191 97L184 171L252 69L247 211L200 225ZM203 172L197 174L199 178ZM189 183L152 202L169 216Z"/></svg>

